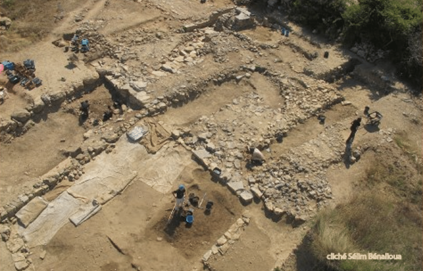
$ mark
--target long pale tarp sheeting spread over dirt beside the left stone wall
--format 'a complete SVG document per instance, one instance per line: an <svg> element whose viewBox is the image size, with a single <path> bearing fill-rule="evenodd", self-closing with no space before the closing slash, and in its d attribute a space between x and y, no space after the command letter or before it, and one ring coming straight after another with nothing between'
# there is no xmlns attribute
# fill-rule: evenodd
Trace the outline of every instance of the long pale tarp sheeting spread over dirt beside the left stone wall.
<svg viewBox="0 0 423 271"><path fill-rule="evenodd" d="M126 139L116 143L116 153L102 153L85 166L85 174L60 194L19 234L30 247L45 245L69 220L80 224L100 210L137 177L161 193L167 193L176 177L191 163L191 154L179 146L165 146L155 155L141 144ZM135 171L137 170L137 171ZM99 203L96 207L93 199ZM90 206L91 205L91 206Z"/></svg>

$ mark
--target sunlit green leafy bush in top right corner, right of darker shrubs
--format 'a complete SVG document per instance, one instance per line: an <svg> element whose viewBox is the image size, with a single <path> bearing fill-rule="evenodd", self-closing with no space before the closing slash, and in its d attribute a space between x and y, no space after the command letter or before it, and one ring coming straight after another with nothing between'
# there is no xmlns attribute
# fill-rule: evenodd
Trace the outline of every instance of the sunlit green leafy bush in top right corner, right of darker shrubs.
<svg viewBox="0 0 423 271"><path fill-rule="evenodd" d="M359 0L342 14L346 44L362 39L392 50L398 74L422 86L422 5L416 0Z"/></svg>

